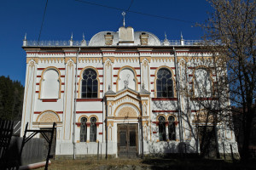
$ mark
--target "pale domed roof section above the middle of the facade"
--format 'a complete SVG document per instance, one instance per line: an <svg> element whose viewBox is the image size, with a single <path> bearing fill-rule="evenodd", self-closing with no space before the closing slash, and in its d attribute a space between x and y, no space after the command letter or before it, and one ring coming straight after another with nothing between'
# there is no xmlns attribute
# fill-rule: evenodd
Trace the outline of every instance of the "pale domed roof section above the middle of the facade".
<svg viewBox="0 0 256 170"><path fill-rule="evenodd" d="M129 27L127 27L129 28ZM131 28L132 29L132 28ZM122 29L124 30L124 29ZM119 29L119 31L121 31ZM96 33L93 37L91 37L89 46L118 46L119 45L119 31L114 32L114 31L101 31ZM132 29L132 36L134 41L129 41L127 43L122 42L122 45L129 45L129 46L160 46L160 40L158 37L156 37L153 33L148 32L148 31L135 31L133 32ZM146 38L146 43L142 44L142 41ZM106 42L108 41L108 42Z"/></svg>

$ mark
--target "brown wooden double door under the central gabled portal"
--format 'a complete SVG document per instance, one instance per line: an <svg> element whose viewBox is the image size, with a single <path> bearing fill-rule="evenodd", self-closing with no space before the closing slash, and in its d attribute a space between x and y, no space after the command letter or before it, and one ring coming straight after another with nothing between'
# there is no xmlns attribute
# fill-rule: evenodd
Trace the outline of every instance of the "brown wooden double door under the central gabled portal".
<svg viewBox="0 0 256 170"><path fill-rule="evenodd" d="M118 124L118 155L137 156L137 124Z"/></svg>

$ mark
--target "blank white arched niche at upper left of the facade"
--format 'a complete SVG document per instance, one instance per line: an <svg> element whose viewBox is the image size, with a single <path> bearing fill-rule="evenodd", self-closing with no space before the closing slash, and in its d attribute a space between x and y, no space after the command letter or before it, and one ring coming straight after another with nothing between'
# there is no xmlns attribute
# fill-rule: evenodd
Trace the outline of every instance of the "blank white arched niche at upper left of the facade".
<svg viewBox="0 0 256 170"><path fill-rule="evenodd" d="M59 72L55 69L48 69L44 72L41 82L41 99L59 99L60 79Z"/></svg>

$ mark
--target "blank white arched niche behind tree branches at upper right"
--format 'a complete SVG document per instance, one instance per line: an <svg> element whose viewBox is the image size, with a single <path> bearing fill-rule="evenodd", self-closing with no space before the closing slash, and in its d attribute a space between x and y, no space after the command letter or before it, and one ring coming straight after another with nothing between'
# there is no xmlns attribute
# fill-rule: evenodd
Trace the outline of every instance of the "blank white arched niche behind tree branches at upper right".
<svg viewBox="0 0 256 170"><path fill-rule="evenodd" d="M212 97L212 80L206 69L195 70L194 95L195 97Z"/></svg>

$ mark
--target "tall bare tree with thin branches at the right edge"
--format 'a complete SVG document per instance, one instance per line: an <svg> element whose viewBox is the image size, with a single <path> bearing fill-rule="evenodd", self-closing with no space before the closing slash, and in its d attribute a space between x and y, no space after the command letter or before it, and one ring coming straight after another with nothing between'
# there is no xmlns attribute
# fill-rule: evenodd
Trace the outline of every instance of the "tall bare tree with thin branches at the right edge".
<svg viewBox="0 0 256 170"><path fill-rule="evenodd" d="M213 8L207 24L203 26L206 39L220 46L209 48L218 64L217 71L227 70L224 79L218 82L218 93L229 88L225 100L241 107L243 144L241 159L249 156L250 133L256 115L256 1L255 0L209 0ZM221 74L223 74L222 72ZM221 78L221 77L220 77ZM223 84L219 83L226 83ZM237 111L237 110L236 110Z"/></svg>

